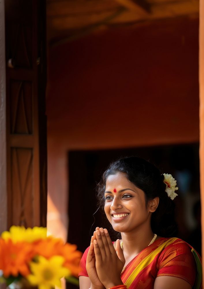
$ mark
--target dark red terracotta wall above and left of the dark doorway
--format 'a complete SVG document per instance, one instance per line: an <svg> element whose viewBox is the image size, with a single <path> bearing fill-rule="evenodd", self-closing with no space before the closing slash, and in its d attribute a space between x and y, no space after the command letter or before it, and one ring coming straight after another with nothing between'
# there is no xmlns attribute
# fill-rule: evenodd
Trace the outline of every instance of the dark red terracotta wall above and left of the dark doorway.
<svg viewBox="0 0 204 289"><path fill-rule="evenodd" d="M48 227L54 233L67 232L68 150L199 141L198 25L184 17L104 28L50 48Z"/></svg>

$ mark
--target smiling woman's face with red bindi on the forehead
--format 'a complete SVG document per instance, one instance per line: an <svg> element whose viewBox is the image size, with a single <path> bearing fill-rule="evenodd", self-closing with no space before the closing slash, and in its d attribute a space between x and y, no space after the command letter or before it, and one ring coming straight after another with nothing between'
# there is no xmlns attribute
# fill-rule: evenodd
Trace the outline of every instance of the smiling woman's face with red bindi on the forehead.
<svg viewBox="0 0 204 289"><path fill-rule="evenodd" d="M104 211L115 231L129 232L150 225L151 214L145 193L128 181L124 173L107 178L104 195Z"/></svg>

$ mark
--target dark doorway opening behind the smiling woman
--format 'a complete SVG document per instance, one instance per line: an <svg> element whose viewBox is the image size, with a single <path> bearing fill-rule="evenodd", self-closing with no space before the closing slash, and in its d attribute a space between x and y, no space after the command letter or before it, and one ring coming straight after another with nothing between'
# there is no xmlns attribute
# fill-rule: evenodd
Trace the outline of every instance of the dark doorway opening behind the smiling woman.
<svg viewBox="0 0 204 289"><path fill-rule="evenodd" d="M191 232L198 225L193 216L193 207L200 199L198 143L114 150L69 151L68 242L77 244L79 250L85 251L89 246L96 226L110 228L103 210L100 209L96 212L98 208L96 186L111 161L130 155L149 160L158 166L162 173L170 173L177 179L179 187L179 197L175 198L179 226L177 237L188 241ZM111 235L114 240L114 233L111 232ZM199 251L199 248L195 249Z"/></svg>

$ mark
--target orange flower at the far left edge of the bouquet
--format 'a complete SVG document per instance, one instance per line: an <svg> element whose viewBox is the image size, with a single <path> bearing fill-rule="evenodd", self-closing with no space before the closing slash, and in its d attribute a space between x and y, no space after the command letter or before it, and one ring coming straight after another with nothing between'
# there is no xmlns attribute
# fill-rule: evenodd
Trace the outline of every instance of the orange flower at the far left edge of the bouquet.
<svg viewBox="0 0 204 289"><path fill-rule="evenodd" d="M0 269L4 277L27 276L30 273L28 263L34 256L31 244L27 242L13 243L12 240L0 239Z"/></svg>

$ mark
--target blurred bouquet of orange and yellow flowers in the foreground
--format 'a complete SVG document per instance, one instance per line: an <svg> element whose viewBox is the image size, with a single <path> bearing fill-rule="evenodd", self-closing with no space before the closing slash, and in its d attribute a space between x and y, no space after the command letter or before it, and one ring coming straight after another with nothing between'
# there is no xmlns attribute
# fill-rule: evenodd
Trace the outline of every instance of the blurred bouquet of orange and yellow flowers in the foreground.
<svg viewBox="0 0 204 289"><path fill-rule="evenodd" d="M78 285L81 256L76 245L47 237L46 228L12 226L0 238L1 280L7 286L15 282L20 287L51 289L61 287L60 279L65 277Z"/></svg>

